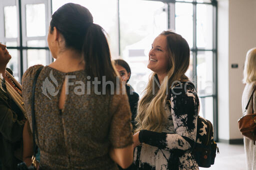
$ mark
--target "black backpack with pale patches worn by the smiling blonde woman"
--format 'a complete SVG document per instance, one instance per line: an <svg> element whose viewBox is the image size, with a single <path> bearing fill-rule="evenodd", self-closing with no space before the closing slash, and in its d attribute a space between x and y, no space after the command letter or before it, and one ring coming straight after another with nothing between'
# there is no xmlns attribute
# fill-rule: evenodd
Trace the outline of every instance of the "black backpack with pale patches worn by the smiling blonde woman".
<svg viewBox="0 0 256 170"><path fill-rule="evenodd" d="M178 84L177 84L178 85ZM174 87L177 85L174 84ZM168 90L167 100L170 99L171 90ZM170 110L171 107L168 105ZM213 140L213 126L210 121L198 116L195 143L191 148L191 153L199 167L209 168L214 164L216 151L219 153L217 144Z"/></svg>

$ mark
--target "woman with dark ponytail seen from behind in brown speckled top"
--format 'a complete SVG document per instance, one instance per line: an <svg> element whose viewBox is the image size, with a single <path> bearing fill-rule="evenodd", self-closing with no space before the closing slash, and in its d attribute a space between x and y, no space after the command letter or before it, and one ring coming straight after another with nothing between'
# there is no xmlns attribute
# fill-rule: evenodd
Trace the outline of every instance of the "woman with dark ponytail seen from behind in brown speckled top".
<svg viewBox="0 0 256 170"><path fill-rule="evenodd" d="M66 3L53 13L47 40L56 60L42 68L35 88L39 169L118 170L115 163L127 168L133 157L131 113L127 95L117 91L120 84L101 83L117 76L102 28L87 8ZM22 77L30 131L32 81L40 67ZM31 147L26 150L31 156Z"/></svg>

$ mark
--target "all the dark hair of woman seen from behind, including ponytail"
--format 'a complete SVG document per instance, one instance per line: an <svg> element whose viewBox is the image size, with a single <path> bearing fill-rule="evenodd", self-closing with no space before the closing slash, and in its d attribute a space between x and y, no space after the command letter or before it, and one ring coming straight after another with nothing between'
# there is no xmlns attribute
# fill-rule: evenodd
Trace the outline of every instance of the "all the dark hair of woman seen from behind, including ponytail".
<svg viewBox="0 0 256 170"><path fill-rule="evenodd" d="M110 59L110 51L103 28L93 23L89 10L79 4L66 3L58 8L50 21L53 27L63 35L65 48L81 52L85 61L86 75L95 77L102 83L112 81L115 85L117 73Z"/></svg>

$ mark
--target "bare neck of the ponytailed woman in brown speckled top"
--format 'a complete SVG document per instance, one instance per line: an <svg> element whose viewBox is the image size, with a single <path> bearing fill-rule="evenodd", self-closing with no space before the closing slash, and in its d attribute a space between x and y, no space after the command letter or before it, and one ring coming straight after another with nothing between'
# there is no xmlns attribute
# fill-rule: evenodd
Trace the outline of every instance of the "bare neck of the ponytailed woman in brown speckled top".
<svg viewBox="0 0 256 170"><path fill-rule="evenodd" d="M84 61L81 53L74 50L65 50L56 56L56 60L49 64L62 72L72 72L84 69Z"/></svg>

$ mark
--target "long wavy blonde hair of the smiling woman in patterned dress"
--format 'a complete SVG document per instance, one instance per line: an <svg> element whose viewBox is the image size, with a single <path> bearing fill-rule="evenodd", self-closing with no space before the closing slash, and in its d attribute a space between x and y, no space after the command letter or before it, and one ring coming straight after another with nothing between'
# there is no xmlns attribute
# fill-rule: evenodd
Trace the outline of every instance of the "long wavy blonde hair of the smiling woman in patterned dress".
<svg viewBox="0 0 256 170"><path fill-rule="evenodd" d="M140 130L161 132L167 116L164 111L167 89L174 81L188 81L185 72L189 66L190 51L186 40L171 31L163 31L160 35L166 37L168 47L167 76L161 82L160 87L157 86L159 81L157 74L153 73L150 76L144 95L138 102L135 132Z"/></svg>

